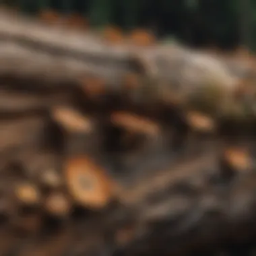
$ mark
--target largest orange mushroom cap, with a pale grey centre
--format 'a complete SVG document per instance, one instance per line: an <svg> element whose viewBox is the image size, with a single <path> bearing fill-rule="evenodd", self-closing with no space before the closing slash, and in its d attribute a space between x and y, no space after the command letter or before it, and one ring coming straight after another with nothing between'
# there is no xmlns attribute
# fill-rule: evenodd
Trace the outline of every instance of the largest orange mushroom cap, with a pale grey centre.
<svg viewBox="0 0 256 256"><path fill-rule="evenodd" d="M89 158L77 157L67 160L65 179L73 199L84 207L102 208L112 197L112 182Z"/></svg>

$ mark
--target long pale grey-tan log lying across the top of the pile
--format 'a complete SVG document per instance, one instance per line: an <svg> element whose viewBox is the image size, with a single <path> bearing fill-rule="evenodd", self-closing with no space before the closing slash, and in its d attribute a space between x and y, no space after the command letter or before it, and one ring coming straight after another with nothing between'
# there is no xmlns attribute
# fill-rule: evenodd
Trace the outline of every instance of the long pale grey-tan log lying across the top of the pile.
<svg viewBox="0 0 256 256"><path fill-rule="evenodd" d="M125 73L141 73L141 68L135 67L140 65L143 74L149 77L153 75L172 84L178 82L180 90L184 92L185 88L187 93L197 86L209 86L209 79L217 87L218 84L224 84L220 87L230 92L237 78L230 74L228 64L220 58L197 53L183 46L158 44L145 49L129 44L110 46L90 32L82 35L62 30L58 26L49 29L35 21L11 17L6 13L1 13L0 35L0 55L4 60L4 65L0 65L3 69L0 73L10 71L36 75L42 72L41 78L45 75L48 77L44 79L54 76L55 79L61 79L61 75L63 79L76 79L82 73L93 73L95 70L101 77L106 77L108 82L111 80L108 84L115 84ZM21 67L19 58L20 63L26 62L28 65ZM51 72L46 67L51 67ZM200 75L195 77L195 73Z"/></svg>

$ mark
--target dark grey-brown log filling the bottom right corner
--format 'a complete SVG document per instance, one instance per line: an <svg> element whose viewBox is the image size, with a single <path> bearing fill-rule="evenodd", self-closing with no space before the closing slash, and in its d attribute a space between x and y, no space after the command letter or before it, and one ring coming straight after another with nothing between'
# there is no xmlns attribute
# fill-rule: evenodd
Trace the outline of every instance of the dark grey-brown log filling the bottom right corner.
<svg viewBox="0 0 256 256"><path fill-rule="evenodd" d="M150 207L148 203L141 208L145 215L138 217L137 230L131 241L121 248L121 253L141 255L161 248L162 255L189 255L205 249L212 251L213 247L220 245L225 247L231 241L245 243L255 232L251 219L255 211L253 177L255 174L243 181L237 179L224 191L214 186L205 187L195 194L176 189L169 191L167 197L155 197ZM135 216L141 213L139 210ZM230 230L243 234L230 235ZM139 246L149 242L150 249Z"/></svg>

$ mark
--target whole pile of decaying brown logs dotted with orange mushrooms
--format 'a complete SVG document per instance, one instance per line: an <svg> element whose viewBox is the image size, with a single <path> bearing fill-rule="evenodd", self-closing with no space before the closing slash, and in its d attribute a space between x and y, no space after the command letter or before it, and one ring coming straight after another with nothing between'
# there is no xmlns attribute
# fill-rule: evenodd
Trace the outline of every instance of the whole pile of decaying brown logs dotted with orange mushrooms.
<svg viewBox="0 0 256 256"><path fill-rule="evenodd" d="M254 238L251 64L53 23L0 12L0 254L218 255Z"/></svg>

